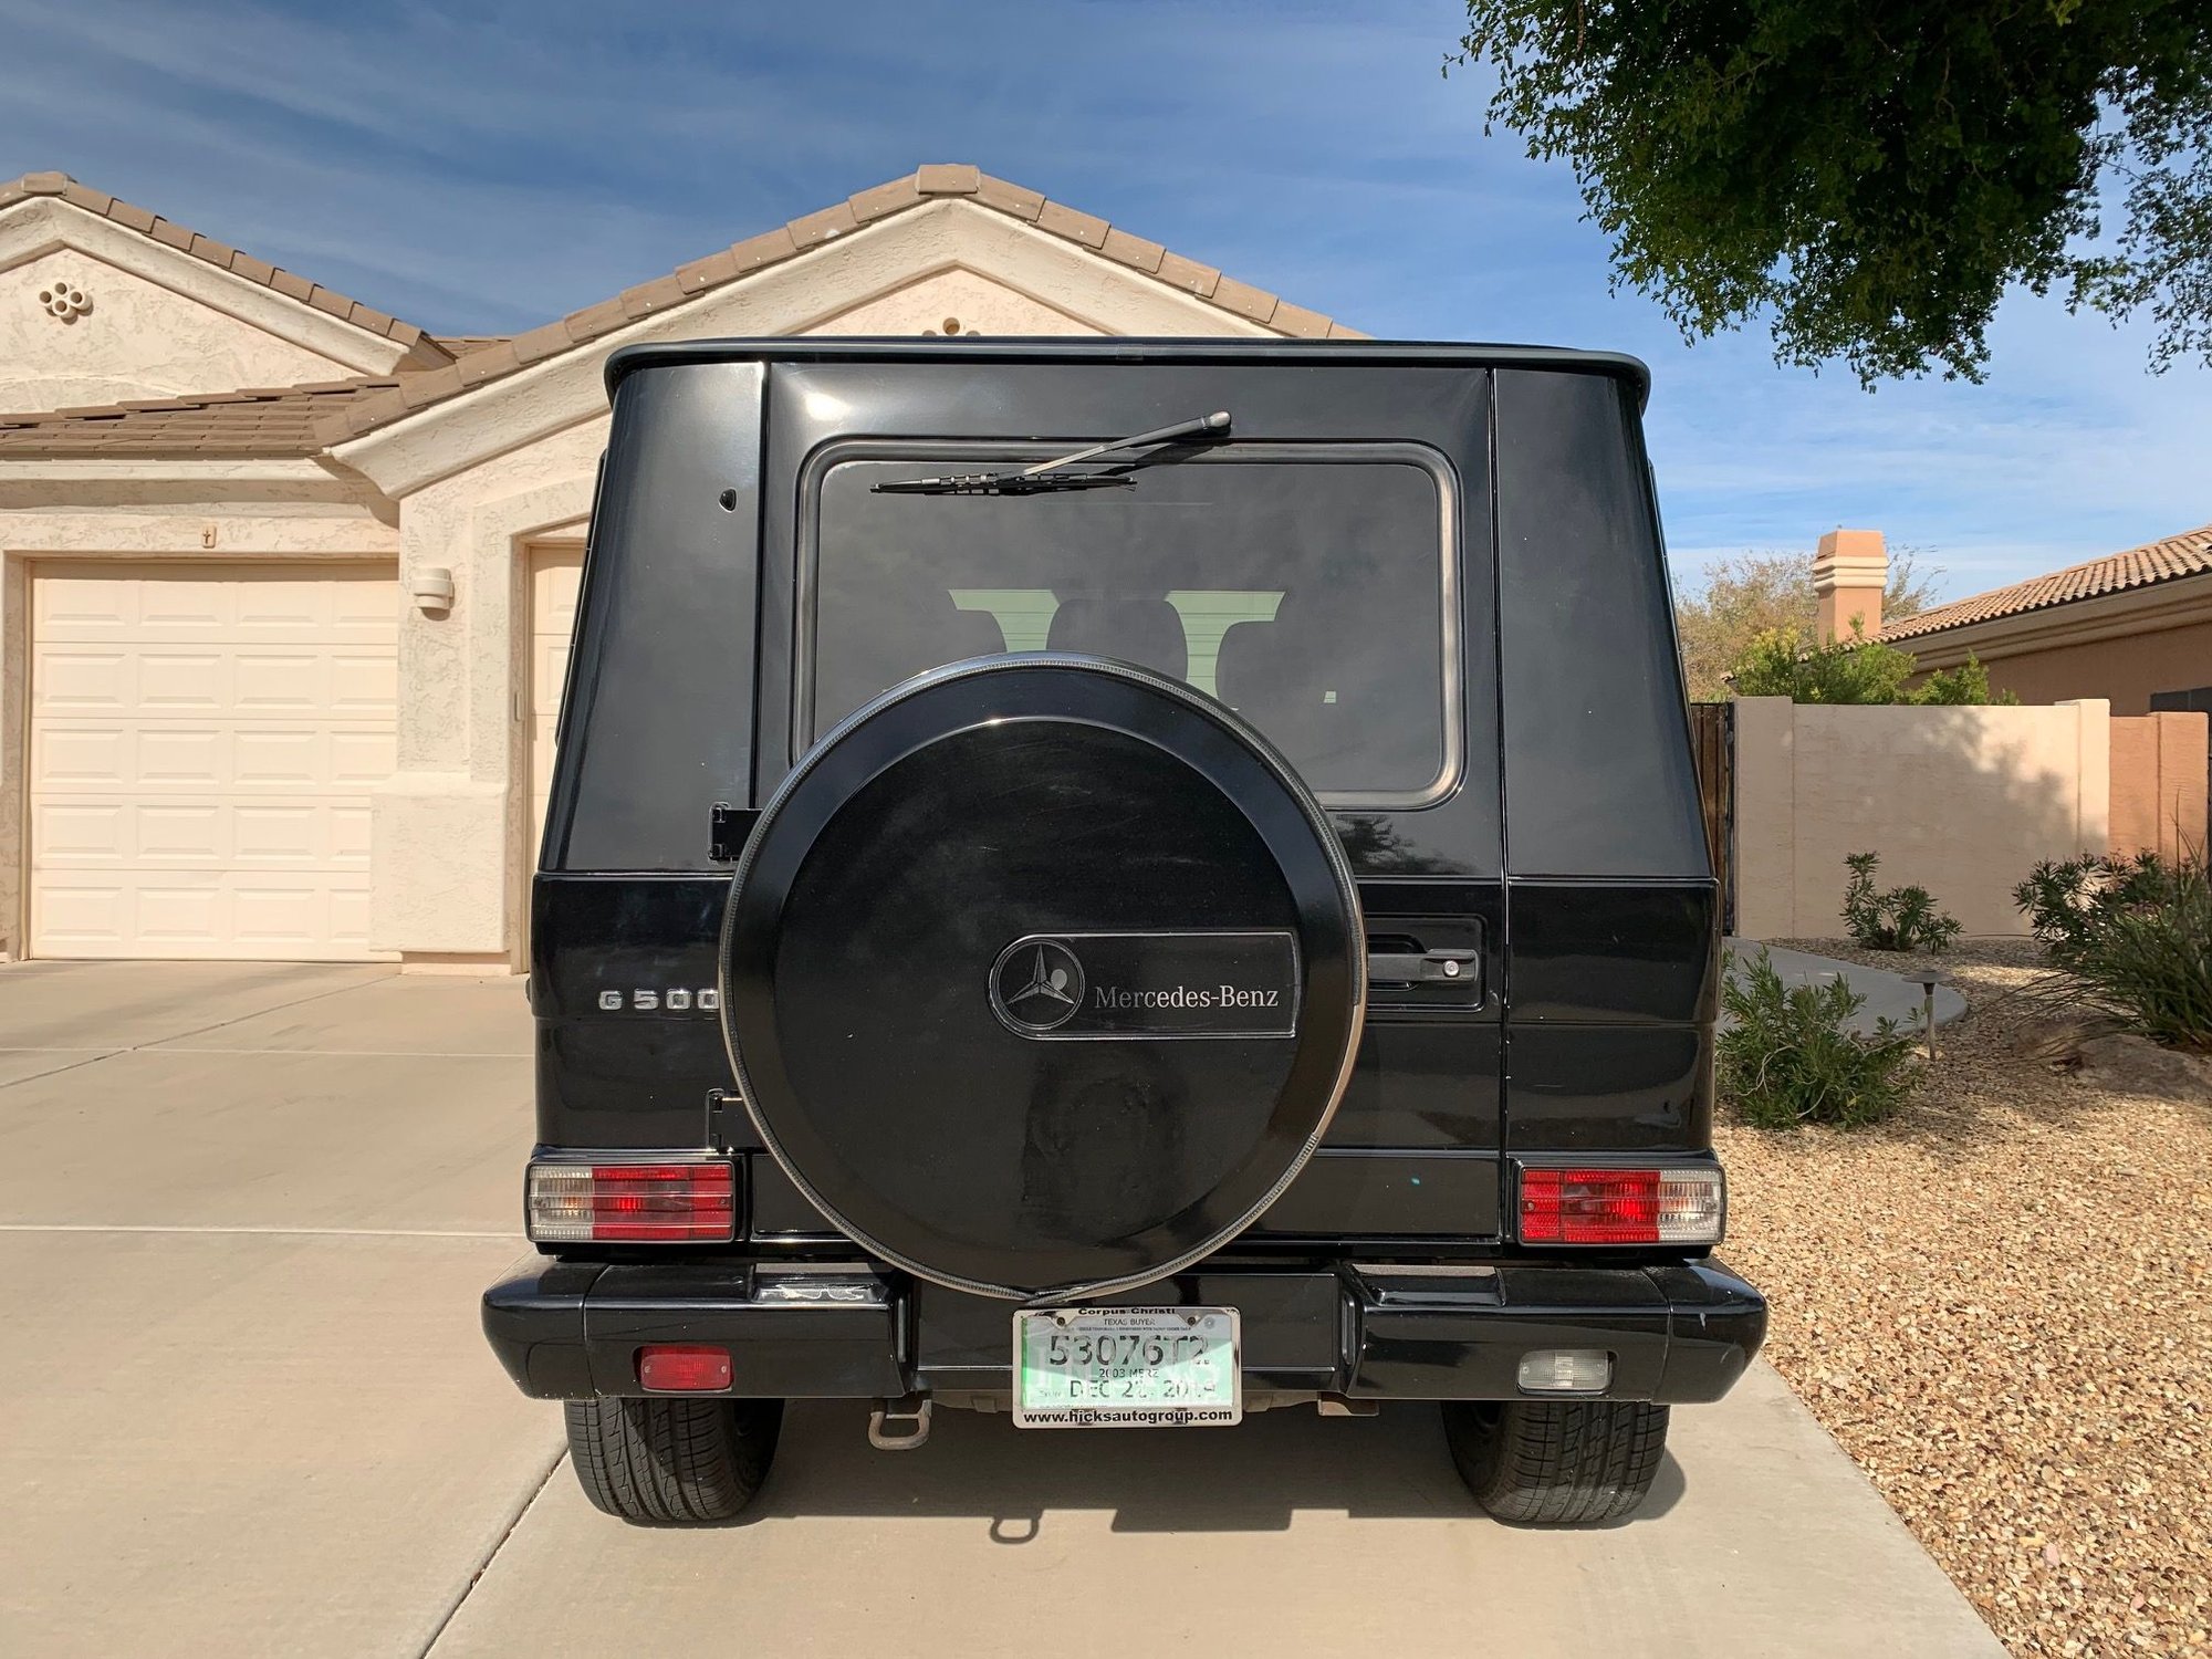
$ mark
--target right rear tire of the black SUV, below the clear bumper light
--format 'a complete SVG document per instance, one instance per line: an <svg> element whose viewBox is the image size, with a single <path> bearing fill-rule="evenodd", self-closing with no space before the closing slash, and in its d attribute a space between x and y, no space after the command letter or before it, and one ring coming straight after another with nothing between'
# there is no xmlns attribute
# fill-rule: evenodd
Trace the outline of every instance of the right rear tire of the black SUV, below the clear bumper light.
<svg viewBox="0 0 2212 1659"><path fill-rule="evenodd" d="M1590 1526L1635 1513L1666 1455L1668 1407L1641 1400L1451 1400L1444 1438L1498 1520Z"/></svg>

